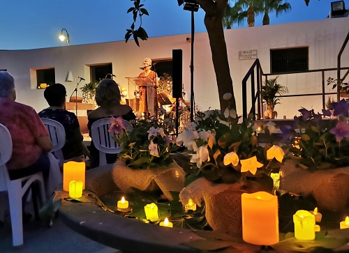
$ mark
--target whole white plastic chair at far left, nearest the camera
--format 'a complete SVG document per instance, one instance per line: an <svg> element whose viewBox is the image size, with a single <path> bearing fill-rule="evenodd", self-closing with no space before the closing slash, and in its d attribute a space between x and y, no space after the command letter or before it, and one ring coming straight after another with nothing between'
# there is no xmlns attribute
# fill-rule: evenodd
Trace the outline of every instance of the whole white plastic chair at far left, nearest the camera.
<svg viewBox="0 0 349 253"><path fill-rule="evenodd" d="M28 190L31 183L38 181L40 185L40 197L43 203L46 201L46 196L43 174L41 172L12 181L10 180L6 162L11 158L12 148L10 132L4 125L0 124L0 192L8 192L13 246L20 246L23 244L22 197L24 193ZM22 183L24 183L23 186Z"/></svg>

